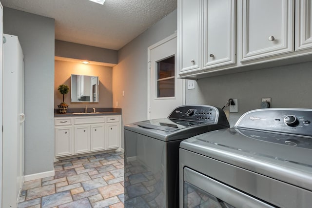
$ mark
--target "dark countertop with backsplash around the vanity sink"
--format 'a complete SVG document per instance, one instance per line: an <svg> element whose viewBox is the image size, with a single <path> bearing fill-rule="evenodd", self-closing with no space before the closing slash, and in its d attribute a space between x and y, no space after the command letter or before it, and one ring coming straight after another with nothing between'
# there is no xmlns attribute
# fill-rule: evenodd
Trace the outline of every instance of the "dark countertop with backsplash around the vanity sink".
<svg viewBox="0 0 312 208"><path fill-rule="evenodd" d="M54 109L54 117L70 117L70 116L108 116L108 115L121 115L121 108L96 108L95 114L73 114L84 112L84 108L68 108L67 113L59 113L59 109ZM88 108L88 113L93 112L92 108Z"/></svg>

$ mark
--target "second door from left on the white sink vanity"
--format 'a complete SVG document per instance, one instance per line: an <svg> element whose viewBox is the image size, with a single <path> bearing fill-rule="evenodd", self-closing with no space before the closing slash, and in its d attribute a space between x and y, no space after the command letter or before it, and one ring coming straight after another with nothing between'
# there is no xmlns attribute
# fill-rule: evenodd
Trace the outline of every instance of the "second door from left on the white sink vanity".
<svg viewBox="0 0 312 208"><path fill-rule="evenodd" d="M75 125L75 154L90 151L90 125Z"/></svg>

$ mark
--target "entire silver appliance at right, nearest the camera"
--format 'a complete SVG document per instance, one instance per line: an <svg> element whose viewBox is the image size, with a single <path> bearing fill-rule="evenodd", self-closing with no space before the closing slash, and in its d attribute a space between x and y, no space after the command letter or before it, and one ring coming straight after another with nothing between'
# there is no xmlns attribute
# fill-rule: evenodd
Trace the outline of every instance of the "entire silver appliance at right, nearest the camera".
<svg viewBox="0 0 312 208"><path fill-rule="evenodd" d="M312 206L312 109L259 109L180 143L180 207Z"/></svg>

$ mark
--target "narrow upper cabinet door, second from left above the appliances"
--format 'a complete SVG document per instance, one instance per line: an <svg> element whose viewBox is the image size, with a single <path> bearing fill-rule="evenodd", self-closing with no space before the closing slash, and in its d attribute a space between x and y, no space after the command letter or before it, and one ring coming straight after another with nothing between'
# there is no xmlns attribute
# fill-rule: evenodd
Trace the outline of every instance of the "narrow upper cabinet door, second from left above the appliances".
<svg viewBox="0 0 312 208"><path fill-rule="evenodd" d="M235 63L236 0L204 0L203 68Z"/></svg>

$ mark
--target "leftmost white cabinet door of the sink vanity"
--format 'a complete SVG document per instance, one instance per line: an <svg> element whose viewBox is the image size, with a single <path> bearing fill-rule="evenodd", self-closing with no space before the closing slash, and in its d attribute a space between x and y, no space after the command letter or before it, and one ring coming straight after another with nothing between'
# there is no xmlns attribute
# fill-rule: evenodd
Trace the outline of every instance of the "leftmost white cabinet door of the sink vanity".
<svg viewBox="0 0 312 208"><path fill-rule="evenodd" d="M72 127L55 127L55 156L72 155Z"/></svg>

